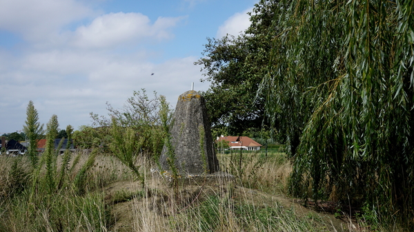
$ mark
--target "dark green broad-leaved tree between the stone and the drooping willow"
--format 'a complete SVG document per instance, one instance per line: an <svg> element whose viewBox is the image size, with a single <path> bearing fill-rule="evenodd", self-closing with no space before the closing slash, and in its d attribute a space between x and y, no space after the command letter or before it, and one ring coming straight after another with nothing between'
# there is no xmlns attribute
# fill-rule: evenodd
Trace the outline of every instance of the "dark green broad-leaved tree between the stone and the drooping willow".
<svg viewBox="0 0 414 232"><path fill-rule="evenodd" d="M259 83L266 75L271 48L273 19L271 8L255 18L246 34L210 39L195 62L202 65L210 88L201 94L213 127L228 127L230 134L241 134L249 127L260 128L264 121L265 95L257 94ZM214 135L214 134L213 134Z"/></svg>

